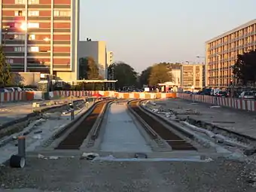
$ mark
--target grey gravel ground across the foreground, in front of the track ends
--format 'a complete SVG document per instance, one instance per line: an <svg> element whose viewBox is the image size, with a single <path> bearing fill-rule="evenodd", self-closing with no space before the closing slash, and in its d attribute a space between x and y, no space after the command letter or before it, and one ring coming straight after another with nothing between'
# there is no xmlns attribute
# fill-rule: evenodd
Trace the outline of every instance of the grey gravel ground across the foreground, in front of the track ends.
<svg viewBox="0 0 256 192"><path fill-rule="evenodd" d="M243 169L243 163L221 159L120 163L29 157L24 169L0 168L0 191L253 192Z"/></svg>

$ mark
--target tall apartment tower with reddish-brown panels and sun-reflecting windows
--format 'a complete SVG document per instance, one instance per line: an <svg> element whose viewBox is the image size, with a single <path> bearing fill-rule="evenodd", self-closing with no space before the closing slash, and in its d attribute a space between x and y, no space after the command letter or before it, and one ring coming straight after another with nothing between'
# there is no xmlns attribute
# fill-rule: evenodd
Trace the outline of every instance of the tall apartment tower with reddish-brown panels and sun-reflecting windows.
<svg viewBox="0 0 256 192"><path fill-rule="evenodd" d="M12 72L78 79L80 0L0 0L1 42Z"/></svg>

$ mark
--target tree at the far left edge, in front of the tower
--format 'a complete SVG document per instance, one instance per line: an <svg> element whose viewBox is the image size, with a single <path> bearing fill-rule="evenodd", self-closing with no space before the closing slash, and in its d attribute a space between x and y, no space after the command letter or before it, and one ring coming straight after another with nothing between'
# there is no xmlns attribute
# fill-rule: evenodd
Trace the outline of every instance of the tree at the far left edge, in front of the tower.
<svg viewBox="0 0 256 192"><path fill-rule="evenodd" d="M0 86L5 87L12 83L11 66L6 61L3 47L0 47Z"/></svg>

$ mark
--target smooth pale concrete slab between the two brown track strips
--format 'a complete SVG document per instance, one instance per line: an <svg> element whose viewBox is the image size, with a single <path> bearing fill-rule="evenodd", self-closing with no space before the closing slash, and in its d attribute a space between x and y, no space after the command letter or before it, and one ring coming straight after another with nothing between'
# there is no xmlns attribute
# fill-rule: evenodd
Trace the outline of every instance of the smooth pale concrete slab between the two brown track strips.
<svg viewBox="0 0 256 192"><path fill-rule="evenodd" d="M151 151L127 110L125 104L116 103L108 109L108 120L101 144L102 151Z"/></svg>

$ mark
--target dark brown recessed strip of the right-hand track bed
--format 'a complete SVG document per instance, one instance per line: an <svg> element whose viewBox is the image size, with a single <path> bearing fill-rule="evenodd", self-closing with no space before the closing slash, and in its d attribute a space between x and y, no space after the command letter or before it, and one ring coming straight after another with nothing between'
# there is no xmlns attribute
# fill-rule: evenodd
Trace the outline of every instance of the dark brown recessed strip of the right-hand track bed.
<svg viewBox="0 0 256 192"><path fill-rule="evenodd" d="M177 136L175 133L172 133L171 130L168 130L162 123L154 120L151 116L145 113L145 111L142 111L142 109L137 105L138 102L138 100L135 100L129 103L132 110L135 111L136 114L139 114L139 116L145 120L145 123L147 123L148 126L158 134L158 136L164 139L172 147L172 150L197 150L193 145L187 143L184 139L181 139L180 136Z"/></svg>

